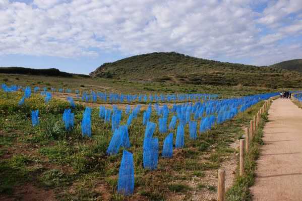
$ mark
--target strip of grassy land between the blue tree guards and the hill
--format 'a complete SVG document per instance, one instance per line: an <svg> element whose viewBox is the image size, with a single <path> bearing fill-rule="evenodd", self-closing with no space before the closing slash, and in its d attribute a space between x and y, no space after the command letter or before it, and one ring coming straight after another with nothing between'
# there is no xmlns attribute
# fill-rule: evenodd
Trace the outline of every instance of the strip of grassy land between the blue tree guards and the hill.
<svg viewBox="0 0 302 201"><path fill-rule="evenodd" d="M19 80L15 78L18 77ZM83 77L46 77L37 75L14 75L14 74L0 74L0 79L8 79L4 81L7 85L22 85L22 86L38 86L55 88L57 91L65 85L64 89L71 89L82 91L101 91L101 92L123 92L125 94L161 94L161 93L207 93L219 94L225 97L248 96L254 94L280 92L290 90L288 88L271 89L262 86L243 86L242 89L233 88L232 86L212 86L212 85L195 85L180 83L175 84L171 82L140 82L127 80L112 80L106 78L83 78ZM81 87L81 85L86 88ZM296 89L292 89L296 90ZM66 97L65 97L66 98Z"/></svg>

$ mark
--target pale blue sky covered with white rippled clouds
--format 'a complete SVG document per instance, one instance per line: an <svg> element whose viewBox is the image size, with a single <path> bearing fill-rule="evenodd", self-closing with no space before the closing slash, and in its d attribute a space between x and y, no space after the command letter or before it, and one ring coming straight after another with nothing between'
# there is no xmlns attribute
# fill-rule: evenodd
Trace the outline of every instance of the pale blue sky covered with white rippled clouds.
<svg viewBox="0 0 302 201"><path fill-rule="evenodd" d="M89 74L179 52L253 65L302 58L301 0L0 0L0 65Z"/></svg>

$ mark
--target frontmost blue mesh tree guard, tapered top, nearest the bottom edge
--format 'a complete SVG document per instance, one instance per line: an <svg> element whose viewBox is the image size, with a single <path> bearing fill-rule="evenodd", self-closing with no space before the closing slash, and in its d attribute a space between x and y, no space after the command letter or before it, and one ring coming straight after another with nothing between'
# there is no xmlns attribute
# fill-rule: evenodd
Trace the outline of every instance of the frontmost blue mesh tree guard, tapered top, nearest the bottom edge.
<svg viewBox="0 0 302 201"><path fill-rule="evenodd" d="M120 163L117 192L124 195L130 195L134 192L133 155L127 150L123 151L123 158Z"/></svg>

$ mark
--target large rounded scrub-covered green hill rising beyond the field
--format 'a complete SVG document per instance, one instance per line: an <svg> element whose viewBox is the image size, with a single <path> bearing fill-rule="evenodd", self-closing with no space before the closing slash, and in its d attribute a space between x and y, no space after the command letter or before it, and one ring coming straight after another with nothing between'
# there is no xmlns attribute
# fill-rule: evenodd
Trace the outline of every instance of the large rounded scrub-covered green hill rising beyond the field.
<svg viewBox="0 0 302 201"><path fill-rule="evenodd" d="M104 63L92 77L173 83L302 87L302 74L272 67L259 67L154 52Z"/></svg>

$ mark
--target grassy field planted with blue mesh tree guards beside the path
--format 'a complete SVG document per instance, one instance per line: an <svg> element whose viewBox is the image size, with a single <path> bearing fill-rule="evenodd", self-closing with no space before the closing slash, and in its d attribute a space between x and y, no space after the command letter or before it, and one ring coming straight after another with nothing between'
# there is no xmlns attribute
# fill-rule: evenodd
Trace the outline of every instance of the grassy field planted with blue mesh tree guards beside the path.
<svg viewBox="0 0 302 201"><path fill-rule="evenodd" d="M0 199L214 200L217 169L230 187L243 127L277 95L42 86L1 85Z"/></svg>

